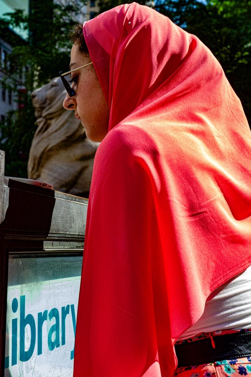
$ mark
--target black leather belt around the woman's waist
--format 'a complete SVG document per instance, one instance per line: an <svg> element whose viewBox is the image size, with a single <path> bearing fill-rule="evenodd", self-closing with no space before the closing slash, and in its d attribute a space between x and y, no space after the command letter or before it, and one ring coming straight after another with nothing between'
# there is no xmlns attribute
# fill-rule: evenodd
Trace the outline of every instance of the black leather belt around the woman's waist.
<svg viewBox="0 0 251 377"><path fill-rule="evenodd" d="M178 367L251 356L251 331L215 336L213 342L210 338L204 338L176 344L175 352Z"/></svg>

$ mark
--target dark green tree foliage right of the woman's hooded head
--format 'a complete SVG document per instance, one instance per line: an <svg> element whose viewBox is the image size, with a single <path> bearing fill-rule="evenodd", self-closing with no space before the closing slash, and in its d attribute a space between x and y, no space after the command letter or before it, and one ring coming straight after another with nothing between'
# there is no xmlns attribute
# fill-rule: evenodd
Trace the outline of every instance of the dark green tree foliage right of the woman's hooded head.
<svg viewBox="0 0 251 377"><path fill-rule="evenodd" d="M214 0L208 6L208 12L212 11L215 14L212 39L207 37L205 43L222 64L228 80L242 101L251 127L251 1ZM205 32L201 39L204 41L204 38Z"/></svg>

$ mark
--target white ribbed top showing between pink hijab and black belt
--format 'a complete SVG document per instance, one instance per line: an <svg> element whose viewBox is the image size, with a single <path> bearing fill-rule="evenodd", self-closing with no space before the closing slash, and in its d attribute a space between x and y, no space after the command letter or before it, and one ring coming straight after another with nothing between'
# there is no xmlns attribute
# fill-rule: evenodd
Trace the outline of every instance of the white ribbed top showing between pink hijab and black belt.
<svg viewBox="0 0 251 377"><path fill-rule="evenodd" d="M251 328L251 266L210 294L200 319L179 340L198 333L246 328Z"/></svg>

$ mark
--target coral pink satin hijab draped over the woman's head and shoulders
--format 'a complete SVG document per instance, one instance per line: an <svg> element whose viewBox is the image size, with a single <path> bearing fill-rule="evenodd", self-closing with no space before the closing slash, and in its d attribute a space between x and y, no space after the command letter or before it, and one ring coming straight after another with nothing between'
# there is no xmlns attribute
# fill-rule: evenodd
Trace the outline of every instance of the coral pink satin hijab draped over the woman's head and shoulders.
<svg viewBox="0 0 251 377"><path fill-rule="evenodd" d="M94 162L75 377L169 377L173 343L251 264L251 137L221 66L136 3L84 24L110 109Z"/></svg>

